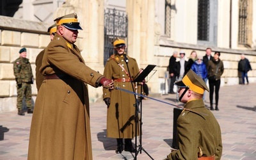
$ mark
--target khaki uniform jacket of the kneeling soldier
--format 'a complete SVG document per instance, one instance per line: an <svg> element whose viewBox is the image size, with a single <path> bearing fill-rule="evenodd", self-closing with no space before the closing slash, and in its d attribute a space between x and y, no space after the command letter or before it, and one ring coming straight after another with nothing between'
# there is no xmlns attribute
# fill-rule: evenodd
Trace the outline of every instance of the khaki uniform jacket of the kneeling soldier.
<svg viewBox="0 0 256 160"><path fill-rule="evenodd" d="M205 108L202 99L189 101L177 119L177 135L179 150L173 151L167 159L198 159L198 147L203 156L215 155L221 159L221 130L214 115Z"/></svg>

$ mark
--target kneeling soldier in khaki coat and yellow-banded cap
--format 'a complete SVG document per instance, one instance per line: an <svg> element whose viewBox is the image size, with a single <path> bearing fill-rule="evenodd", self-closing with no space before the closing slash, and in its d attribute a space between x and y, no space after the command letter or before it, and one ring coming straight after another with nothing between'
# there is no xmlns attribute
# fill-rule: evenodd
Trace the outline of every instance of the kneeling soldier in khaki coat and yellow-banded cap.
<svg viewBox="0 0 256 160"><path fill-rule="evenodd" d="M209 92L204 80L193 70L175 83L179 88L179 100L186 103L177 119L178 150L168 159L221 159L221 130L214 115L205 108L204 90Z"/></svg>

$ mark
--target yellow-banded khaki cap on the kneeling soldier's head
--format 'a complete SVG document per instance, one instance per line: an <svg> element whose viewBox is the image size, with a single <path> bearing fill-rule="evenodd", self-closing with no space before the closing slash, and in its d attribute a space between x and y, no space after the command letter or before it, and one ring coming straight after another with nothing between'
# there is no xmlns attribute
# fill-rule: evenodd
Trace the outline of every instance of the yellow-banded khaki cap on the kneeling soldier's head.
<svg viewBox="0 0 256 160"><path fill-rule="evenodd" d="M190 90L193 90L193 92L200 94L204 94L204 90L209 92L209 89L206 86L204 80L197 76L193 70L189 70L189 72L182 78L181 81L178 81L174 84L180 88L189 88Z"/></svg>

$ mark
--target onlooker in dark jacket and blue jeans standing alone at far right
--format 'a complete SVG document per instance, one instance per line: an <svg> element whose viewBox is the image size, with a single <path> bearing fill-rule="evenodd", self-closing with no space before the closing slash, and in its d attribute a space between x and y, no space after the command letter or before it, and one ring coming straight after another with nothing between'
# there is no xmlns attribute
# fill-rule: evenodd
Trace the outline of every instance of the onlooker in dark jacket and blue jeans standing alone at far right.
<svg viewBox="0 0 256 160"><path fill-rule="evenodd" d="M247 84L249 84L247 75L249 70L252 70L250 61L244 57L244 54L241 54L241 60L238 62L238 71L242 74L243 84L245 82L244 78L246 78Z"/></svg>

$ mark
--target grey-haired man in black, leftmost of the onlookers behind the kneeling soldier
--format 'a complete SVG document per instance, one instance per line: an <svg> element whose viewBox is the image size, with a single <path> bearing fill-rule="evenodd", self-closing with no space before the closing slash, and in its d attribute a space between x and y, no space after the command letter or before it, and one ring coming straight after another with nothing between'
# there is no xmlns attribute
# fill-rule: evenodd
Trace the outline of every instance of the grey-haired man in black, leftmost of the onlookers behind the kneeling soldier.
<svg viewBox="0 0 256 160"><path fill-rule="evenodd" d="M173 85L176 81L176 75L175 75L175 63L176 63L176 58L177 58L178 52L174 51L172 56L170 57L169 60L169 75L170 75L170 88L169 88L169 92L170 94L175 94L175 92L173 92Z"/></svg>

